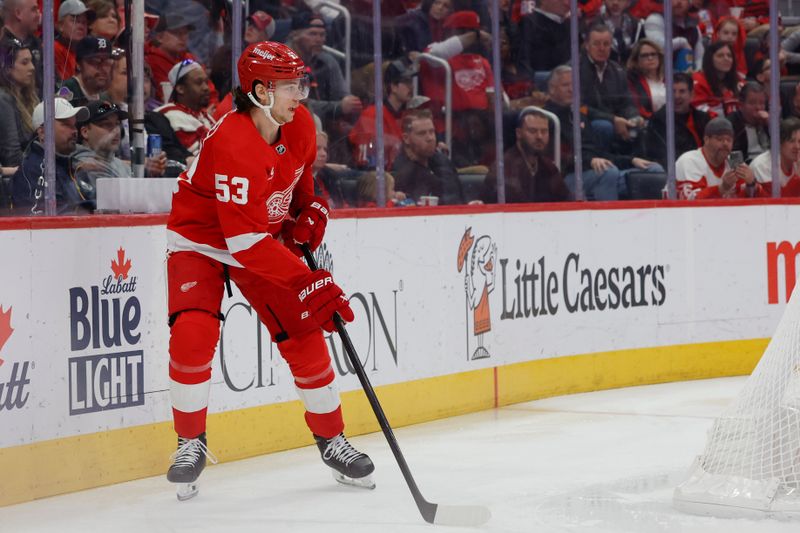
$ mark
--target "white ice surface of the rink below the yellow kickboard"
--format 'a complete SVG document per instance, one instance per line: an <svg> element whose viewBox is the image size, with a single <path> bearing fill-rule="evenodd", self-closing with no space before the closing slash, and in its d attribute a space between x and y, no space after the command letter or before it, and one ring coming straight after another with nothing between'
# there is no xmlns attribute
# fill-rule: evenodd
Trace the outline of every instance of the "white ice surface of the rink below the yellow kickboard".
<svg viewBox="0 0 800 533"><path fill-rule="evenodd" d="M397 430L428 500L491 509L477 530L423 522L383 436L373 434L351 441L376 463L374 491L336 483L309 446L209 467L188 502L159 476L0 508L0 532L796 533L797 523L671 506L713 417L743 382L577 394Z"/></svg>

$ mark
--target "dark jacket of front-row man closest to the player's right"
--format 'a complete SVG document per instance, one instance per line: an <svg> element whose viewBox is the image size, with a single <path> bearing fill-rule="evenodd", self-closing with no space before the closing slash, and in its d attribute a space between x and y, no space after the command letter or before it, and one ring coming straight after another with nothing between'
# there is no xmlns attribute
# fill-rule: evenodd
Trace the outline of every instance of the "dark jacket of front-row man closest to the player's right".
<svg viewBox="0 0 800 533"><path fill-rule="evenodd" d="M403 149L394 160L392 176L395 190L406 193L414 201L420 196L438 196L439 205L464 203L458 171L441 152L434 153L426 167L409 159Z"/></svg>

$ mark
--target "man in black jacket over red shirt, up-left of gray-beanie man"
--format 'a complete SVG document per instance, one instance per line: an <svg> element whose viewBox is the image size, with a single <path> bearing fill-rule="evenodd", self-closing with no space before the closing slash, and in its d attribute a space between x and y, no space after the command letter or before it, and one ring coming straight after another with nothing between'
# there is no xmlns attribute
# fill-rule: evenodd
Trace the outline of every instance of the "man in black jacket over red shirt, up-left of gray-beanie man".
<svg viewBox="0 0 800 533"><path fill-rule="evenodd" d="M675 157L703 146L703 132L711 119L708 113L692 106L692 77L676 72L672 82L675 102ZM653 114L643 138L644 155L662 166L667 164L667 108Z"/></svg>

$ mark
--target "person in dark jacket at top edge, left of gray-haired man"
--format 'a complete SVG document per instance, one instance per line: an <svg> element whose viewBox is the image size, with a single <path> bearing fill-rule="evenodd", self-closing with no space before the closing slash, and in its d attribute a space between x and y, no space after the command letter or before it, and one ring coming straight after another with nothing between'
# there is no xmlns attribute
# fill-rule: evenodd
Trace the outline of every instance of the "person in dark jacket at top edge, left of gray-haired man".
<svg viewBox="0 0 800 533"><path fill-rule="evenodd" d="M568 0L541 0L520 24L520 66L531 77L570 59Z"/></svg>

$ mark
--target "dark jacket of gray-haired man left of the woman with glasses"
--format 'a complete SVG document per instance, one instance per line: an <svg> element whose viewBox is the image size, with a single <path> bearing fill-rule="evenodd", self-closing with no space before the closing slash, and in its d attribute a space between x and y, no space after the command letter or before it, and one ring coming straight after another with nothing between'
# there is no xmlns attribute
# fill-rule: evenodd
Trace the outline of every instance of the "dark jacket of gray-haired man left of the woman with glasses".
<svg viewBox="0 0 800 533"><path fill-rule="evenodd" d="M597 68L586 54L581 54L581 104L588 107L589 120L608 120L614 116L639 115L628 89L628 78L618 63L609 61L601 81Z"/></svg>

